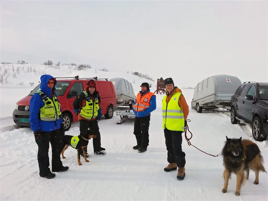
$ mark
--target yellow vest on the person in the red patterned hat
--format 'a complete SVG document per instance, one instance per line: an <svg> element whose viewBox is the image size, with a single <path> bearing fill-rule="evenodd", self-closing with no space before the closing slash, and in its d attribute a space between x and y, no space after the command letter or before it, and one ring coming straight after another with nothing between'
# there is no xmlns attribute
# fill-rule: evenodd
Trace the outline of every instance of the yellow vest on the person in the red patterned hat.
<svg viewBox="0 0 268 201"><path fill-rule="evenodd" d="M99 102L98 96L95 97L94 101L87 94L87 91L83 91L85 94L85 106L81 108L80 116L85 119L96 118L98 116Z"/></svg>

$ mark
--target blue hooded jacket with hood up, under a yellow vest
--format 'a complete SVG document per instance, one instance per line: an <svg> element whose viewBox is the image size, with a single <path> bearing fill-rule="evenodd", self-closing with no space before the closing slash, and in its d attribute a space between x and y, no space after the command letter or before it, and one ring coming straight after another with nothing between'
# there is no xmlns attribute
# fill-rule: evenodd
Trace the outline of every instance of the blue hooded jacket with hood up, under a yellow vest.
<svg viewBox="0 0 268 201"><path fill-rule="evenodd" d="M56 79L51 75L42 75L40 78L41 84L39 91L42 91L50 99L52 99L52 89L47 86L47 83L50 79L55 80L53 91L55 90L55 86L57 84ZM33 132L36 132L39 129L41 129L41 131L54 131L61 127L60 124L62 124L62 118L60 118L59 120L57 119L56 121L40 120L40 114L39 114L40 108L44 107L44 105L45 103L42 101L41 96L38 93L35 93L30 100L30 118L29 118L29 121L31 122L30 124L31 129L33 130Z"/></svg>

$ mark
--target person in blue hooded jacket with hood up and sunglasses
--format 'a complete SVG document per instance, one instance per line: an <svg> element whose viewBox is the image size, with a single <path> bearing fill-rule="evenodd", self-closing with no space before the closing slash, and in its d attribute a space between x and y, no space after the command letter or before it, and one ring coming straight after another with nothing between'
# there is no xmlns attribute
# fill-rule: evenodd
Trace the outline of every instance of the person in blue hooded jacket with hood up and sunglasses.
<svg viewBox="0 0 268 201"><path fill-rule="evenodd" d="M51 173L49 168L49 142L52 148L52 172L65 172L69 167L64 167L60 158L64 147L64 125L61 104L55 94L57 81L51 75L42 75L40 80L40 90L30 100L29 121L38 145L39 175L51 179L55 174Z"/></svg>

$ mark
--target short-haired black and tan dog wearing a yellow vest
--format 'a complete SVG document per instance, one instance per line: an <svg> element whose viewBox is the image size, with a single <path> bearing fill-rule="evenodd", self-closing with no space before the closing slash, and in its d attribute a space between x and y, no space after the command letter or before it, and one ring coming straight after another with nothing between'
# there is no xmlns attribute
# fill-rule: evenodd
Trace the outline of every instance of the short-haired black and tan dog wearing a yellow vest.
<svg viewBox="0 0 268 201"><path fill-rule="evenodd" d="M89 160L86 157L84 148L87 147L88 140L90 140L91 138L95 138L95 137L96 137L96 135L91 130L82 131L82 132L80 132L79 136L64 135L63 136L64 148L61 152L62 158L63 159L66 158L66 157L64 157L63 153L69 146L72 146L73 148L77 149L78 165L82 165L82 163L80 161L81 150L83 150L85 162L89 162Z"/></svg>

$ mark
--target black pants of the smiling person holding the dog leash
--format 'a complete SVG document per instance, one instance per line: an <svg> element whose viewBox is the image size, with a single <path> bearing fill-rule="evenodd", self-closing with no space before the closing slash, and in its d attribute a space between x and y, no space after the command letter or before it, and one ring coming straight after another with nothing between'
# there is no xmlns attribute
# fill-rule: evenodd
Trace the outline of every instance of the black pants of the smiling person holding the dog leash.
<svg viewBox="0 0 268 201"><path fill-rule="evenodd" d="M182 131L170 131L167 128L164 130L166 139L166 148L168 150L168 162L177 163L178 167L185 166L185 153L182 151Z"/></svg>

